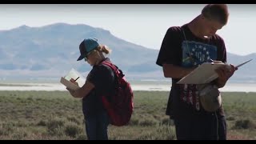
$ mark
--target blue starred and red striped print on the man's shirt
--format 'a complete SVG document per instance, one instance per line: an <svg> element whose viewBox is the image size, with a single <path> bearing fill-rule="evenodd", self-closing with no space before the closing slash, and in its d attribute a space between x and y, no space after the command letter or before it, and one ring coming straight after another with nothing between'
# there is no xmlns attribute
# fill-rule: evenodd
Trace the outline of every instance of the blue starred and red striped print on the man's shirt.
<svg viewBox="0 0 256 144"><path fill-rule="evenodd" d="M202 42L183 41L182 42L182 66L198 66L203 62L210 62L210 59L217 59L217 47ZM193 105L196 110L200 110L199 98L196 96L196 85L181 85L183 102Z"/></svg>

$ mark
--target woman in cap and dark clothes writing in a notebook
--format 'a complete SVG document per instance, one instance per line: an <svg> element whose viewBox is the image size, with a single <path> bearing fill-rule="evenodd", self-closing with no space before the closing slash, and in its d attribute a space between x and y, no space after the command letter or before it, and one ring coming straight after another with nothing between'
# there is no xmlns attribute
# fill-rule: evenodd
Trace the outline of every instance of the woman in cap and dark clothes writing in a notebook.
<svg viewBox="0 0 256 144"><path fill-rule="evenodd" d="M80 46L78 61L85 59L93 66L87 75L86 83L78 90L67 90L74 98L82 98L82 111L86 124L86 135L89 140L106 140L109 116L102 105L102 95L109 95L114 90L114 72L102 62L109 61L105 54L110 54L107 46L99 45L97 39L86 38ZM72 78L70 82L78 85Z"/></svg>

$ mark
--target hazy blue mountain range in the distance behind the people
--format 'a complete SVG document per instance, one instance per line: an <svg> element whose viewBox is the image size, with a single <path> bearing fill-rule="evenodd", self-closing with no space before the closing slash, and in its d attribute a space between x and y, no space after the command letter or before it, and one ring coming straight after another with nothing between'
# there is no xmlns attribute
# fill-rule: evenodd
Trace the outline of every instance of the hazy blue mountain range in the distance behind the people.
<svg viewBox="0 0 256 144"><path fill-rule="evenodd" d="M163 78L162 68L155 64L158 50L126 42L109 30L66 23L0 30L0 78L59 78L72 67L86 74L91 67L76 61L78 45L84 38L98 38L99 43L109 46L112 50L110 59L127 78ZM238 70L234 75L236 79L256 79L255 57L256 54L228 54L228 61L234 64L255 59Z"/></svg>

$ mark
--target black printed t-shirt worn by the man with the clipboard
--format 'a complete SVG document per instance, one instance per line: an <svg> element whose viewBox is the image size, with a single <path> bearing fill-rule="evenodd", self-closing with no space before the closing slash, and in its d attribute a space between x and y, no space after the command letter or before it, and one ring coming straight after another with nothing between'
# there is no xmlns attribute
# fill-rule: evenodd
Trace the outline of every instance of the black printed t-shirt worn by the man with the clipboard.
<svg viewBox="0 0 256 144"><path fill-rule="evenodd" d="M186 25L170 27L162 41L156 64L173 64L174 66L192 67L210 59L226 62L226 47L223 39L214 34L206 39L196 37ZM166 114L173 116L190 116L191 114L209 114L202 109L196 94L195 85L179 85L178 78L172 78L170 98ZM217 110L223 115L223 107Z"/></svg>

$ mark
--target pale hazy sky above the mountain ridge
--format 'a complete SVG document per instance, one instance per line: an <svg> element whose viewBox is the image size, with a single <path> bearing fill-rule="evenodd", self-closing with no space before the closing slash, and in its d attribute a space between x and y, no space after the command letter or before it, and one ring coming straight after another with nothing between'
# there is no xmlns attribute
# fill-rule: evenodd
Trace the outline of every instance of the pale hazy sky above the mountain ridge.
<svg viewBox="0 0 256 144"><path fill-rule="evenodd" d="M178 4L1 4L0 30L18 26L46 26L56 22L86 24L110 30L118 38L151 49L161 46L170 26L190 22L205 5ZM256 5L228 5L230 19L218 34L224 38L228 52L239 55L256 53Z"/></svg>

